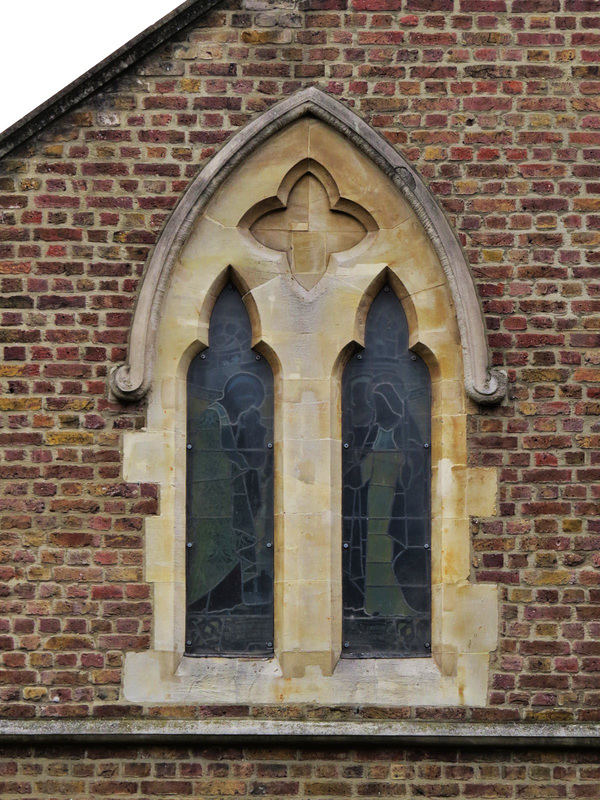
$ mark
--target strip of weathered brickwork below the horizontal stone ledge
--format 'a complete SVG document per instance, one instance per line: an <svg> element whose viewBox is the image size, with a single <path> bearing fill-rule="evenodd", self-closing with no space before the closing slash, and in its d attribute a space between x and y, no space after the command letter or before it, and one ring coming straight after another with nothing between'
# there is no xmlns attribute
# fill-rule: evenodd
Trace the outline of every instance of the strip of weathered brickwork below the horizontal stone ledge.
<svg viewBox="0 0 600 800"><path fill-rule="evenodd" d="M595 798L597 753L218 747L9 747L4 800L28 797Z"/></svg>

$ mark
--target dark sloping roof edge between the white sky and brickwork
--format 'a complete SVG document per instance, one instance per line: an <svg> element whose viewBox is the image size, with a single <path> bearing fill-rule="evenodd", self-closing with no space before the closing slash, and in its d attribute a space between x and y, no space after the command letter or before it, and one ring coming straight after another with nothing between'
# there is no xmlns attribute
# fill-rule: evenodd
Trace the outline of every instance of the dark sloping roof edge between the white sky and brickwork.
<svg viewBox="0 0 600 800"><path fill-rule="evenodd" d="M94 92L106 86L132 64L140 61L182 28L210 11L219 2L220 0L185 0L158 22L126 42L95 67L84 72L49 100L0 133L0 158L51 125Z"/></svg>

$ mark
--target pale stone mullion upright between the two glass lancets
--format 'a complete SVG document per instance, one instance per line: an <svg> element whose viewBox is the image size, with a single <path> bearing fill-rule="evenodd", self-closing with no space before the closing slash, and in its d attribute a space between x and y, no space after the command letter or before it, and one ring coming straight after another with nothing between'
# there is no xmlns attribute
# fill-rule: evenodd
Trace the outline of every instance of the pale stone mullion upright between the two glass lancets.
<svg viewBox="0 0 600 800"><path fill-rule="evenodd" d="M304 350L306 372L318 355L318 337ZM278 353L286 372L285 353ZM297 354L296 354L297 356ZM297 357L295 357L298 375ZM276 655L287 677L316 667L331 674L339 657L339 576L333 541L332 473L339 441L331 425L330 378L284 378L282 440L276 443ZM337 445L337 446L336 446ZM339 517L337 518L339 526ZM339 548L338 548L339 549ZM336 606L337 602L337 606Z"/></svg>

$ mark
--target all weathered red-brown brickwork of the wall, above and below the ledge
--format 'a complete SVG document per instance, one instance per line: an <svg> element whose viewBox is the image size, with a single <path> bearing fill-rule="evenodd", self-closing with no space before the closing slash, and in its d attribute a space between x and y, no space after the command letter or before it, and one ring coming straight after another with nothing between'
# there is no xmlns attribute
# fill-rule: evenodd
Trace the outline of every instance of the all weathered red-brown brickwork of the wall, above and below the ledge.
<svg viewBox="0 0 600 800"><path fill-rule="evenodd" d="M472 463L501 468L499 514L472 526L473 580L502 585L489 706L395 715L600 719L599 8L223 3L0 164L0 714L163 713L120 693L124 653L150 643L144 517L159 498L123 481L122 433L144 425L144 404L110 399L107 375L125 358L144 265L189 180L241 126L316 83L429 183L511 382L508 402L472 416L470 431ZM386 712L347 712L374 714ZM502 768L500 756L435 767L403 753L391 767L365 754L352 767L290 756L279 768L149 752L141 765L100 752L64 769L57 752L16 771L6 755L3 796L43 793L40 782L83 787L53 796L154 796L170 781L181 795L369 795L382 778L387 794L410 796L408 781L442 796L443 778L455 787L443 796L483 796L469 787L501 779L486 796L536 797L546 777L558 787L548 796L592 796L599 776L567 755Z"/></svg>

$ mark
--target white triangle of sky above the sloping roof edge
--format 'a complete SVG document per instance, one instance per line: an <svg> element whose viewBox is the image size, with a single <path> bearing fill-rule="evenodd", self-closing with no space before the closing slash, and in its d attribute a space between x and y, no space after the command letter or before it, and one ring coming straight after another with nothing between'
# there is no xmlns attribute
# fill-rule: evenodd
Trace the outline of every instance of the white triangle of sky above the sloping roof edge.
<svg viewBox="0 0 600 800"><path fill-rule="evenodd" d="M0 0L0 132L183 0Z"/></svg>

